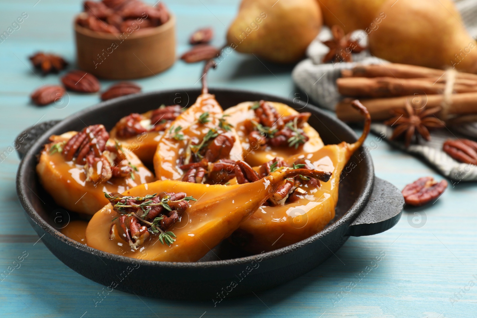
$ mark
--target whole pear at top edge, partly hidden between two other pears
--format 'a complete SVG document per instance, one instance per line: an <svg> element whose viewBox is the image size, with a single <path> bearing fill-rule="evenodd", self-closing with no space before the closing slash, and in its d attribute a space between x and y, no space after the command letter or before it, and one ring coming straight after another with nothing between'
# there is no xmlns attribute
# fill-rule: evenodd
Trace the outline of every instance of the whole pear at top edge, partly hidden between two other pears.
<svg viewBox="0 0 477 318"><path fill-rule="evenodd" d="M385 0L316 0L323 13L323 23L330 28L339 25L345 33L366 30L379 15Z"/></svg>

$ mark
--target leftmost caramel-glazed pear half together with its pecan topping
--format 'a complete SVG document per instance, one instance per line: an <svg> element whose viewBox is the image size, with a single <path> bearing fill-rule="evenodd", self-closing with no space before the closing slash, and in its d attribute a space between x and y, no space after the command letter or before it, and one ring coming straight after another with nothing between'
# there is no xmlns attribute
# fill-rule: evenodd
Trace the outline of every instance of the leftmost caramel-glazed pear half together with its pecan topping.
<svg viewBox="0 0 477 318"><path fill-rule="evenodd" d="M70 211L93 214L108 203L103 191L124 192L155 179L135 154L109 138L103 125L50 140L36 171L43 188Z"/></svg>

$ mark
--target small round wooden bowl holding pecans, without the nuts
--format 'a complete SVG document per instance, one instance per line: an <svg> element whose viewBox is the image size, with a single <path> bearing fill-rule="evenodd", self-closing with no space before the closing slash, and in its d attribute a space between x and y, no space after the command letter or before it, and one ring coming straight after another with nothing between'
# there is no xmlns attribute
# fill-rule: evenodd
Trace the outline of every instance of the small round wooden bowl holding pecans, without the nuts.
<svg viewBox="0 0 477 318"><path fill-rule="evenodd" d="M74 19L76 21L76 19ZM119 34L86 29L76 22L78 67L97 77L129 80L162 72L176 60L176 17L152 29Z"/></svg>

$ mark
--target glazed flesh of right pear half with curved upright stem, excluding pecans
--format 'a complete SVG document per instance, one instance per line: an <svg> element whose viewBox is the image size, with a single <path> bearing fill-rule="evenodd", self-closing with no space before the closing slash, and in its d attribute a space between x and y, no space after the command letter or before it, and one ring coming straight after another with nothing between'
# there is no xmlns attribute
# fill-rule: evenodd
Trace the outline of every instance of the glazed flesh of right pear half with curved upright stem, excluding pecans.
<svg viewBox="0 0 477 318"><path fill-rule="evenodd" d="M296 202L285 205L260 206L240 225L240 229L253 234L253 240L243 248L252 253L270 251L299 242L321 231L335 215L338 186L344 165L348 161L347 144L332 144L313 154L298 154L285 158L288 164L305 158L317 170L332 172L328 182L320 182L316 189L307 189ZM236 182L231 180L231 184ZM279 239L280 238L280 239Z"/></svg>

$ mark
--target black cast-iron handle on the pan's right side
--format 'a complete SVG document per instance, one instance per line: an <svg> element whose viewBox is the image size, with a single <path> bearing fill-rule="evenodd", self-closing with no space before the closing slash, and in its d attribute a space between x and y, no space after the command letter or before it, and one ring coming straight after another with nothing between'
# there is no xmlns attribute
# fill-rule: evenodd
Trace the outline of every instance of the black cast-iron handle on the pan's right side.
<svg viewBox="0 0 477 318"><path fill-rule="evenodd" d="M401 191L391 183L374 177L373 192L363 211L348 228L348 236L374 235L395 226L404 207Z"/></svg>

